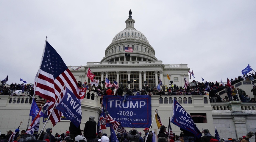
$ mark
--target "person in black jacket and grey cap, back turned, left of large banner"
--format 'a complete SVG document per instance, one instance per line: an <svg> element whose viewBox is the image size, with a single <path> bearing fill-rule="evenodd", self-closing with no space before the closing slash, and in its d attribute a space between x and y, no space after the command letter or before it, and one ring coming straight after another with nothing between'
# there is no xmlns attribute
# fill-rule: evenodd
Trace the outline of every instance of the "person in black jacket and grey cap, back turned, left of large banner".
<svg viewBox="0 0 256 142"><path fill-rule="evenodd" d="M94 121L94 116L90 116L84 128L84 136L87 142L93 142L96 138L96 125L97 123Z"/></svg>

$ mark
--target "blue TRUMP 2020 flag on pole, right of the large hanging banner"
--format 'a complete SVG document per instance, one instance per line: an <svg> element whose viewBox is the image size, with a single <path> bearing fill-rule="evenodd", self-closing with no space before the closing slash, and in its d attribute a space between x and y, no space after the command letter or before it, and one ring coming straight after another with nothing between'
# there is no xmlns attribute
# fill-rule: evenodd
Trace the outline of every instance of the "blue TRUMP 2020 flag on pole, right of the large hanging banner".
<svg viewBox="0 0 256 142"><path fill-rule="evenodd" d="M193 133L195 137L200 138L202 136L200 130L197 128L191 116L185 111L185 109L183 109L176 99L173 100L173 109L174 111L171 122L179 128Z"/></svg>

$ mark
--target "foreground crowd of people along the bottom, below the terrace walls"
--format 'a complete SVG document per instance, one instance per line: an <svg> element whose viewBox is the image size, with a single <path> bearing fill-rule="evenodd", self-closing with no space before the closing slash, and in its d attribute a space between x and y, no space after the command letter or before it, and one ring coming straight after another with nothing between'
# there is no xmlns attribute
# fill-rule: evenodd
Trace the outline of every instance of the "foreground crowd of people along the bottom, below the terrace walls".
<svg viewBox="0 0 256 142"><path fill-rule="evenodd" d="M94 120L94 116L90 116L89 120L85 123L84 130L81 130L80 126L76 127L72 122L70 122L69 131L65 133L52 135L52 128L47 128L46 132L40 135L29 135L25 134L26 130L16 129L13 133L11 130L7 131L7 135L1 134L0 142L29 142L29 141L43 141L43 142L117 142L113 141L111 136L103 133L102 130L96 129L97 123ZM173 135L169 138L169 134L166 131L164 125L160 127L158 131L157 142L218 142L217 138L210 134L208 129L204 129L201 133L204 136L197 138L193 133L180 128L180 135ZM119 142L156 142L154 141L153 132L149 128L145 128L144 134L138 132L136 128L131 128L128 133L116 132L116 138ZM97 133L96 133L97 132ZM241 136L238 139L228 138L225 140L221 139L221 142L249 142L249 139L255 135L253 132L247 133L245 136ZM38 139L38 140L37 140ZM256 140L255 140L256 142Z"/></svg>

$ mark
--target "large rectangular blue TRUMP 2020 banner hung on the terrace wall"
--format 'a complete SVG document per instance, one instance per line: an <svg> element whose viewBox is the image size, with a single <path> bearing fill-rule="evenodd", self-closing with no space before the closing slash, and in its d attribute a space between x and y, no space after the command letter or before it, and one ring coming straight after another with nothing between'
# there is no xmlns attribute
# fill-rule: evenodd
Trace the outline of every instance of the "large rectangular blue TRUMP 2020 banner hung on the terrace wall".
<svg viewBox="0 0 256 142"><path fill-rule="evenodd" d="M102 102L113 120L120 122L122 127L149 128L151 97L148 95L127 96L126 99L123 102L124 98L121 96L104 96Z"/></svg>

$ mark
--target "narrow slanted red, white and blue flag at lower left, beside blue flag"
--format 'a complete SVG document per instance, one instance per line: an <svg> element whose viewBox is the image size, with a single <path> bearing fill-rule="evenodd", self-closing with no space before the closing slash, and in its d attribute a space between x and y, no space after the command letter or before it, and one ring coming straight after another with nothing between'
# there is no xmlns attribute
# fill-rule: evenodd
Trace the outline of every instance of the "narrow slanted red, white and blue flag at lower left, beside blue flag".
<svg viewBox="0 0 256 142"><path fill-rule="evenodd" d="M39 113L36 115L35 119L31 123L31 125L29 126L29 128L27 129L25 134L29 134L29 135L37 135L38 134L40 117L43 114L41 112L41 109L42 109L42 107L40 107Z"/></svg>

